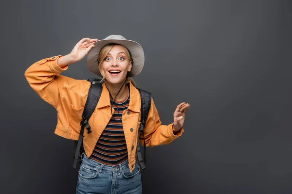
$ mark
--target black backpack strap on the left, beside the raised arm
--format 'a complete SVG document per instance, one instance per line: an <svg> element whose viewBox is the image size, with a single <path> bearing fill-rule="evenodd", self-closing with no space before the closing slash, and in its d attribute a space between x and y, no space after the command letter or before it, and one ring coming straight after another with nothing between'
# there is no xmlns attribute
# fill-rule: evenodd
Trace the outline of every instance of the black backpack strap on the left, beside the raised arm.
<svg viewBox="0 0 292 194"><path fill-rule="evenodd" d="M98 103L98 100L102 92L102 82L100 82L100 80L89 79L88 81L91 82L91 87L88 91L88 97L86 99L86 103L85 103L84 110L82 113L82 121L80 122L81 129L80 129L77 144L75 141L76 151L75 151L75 156L74 156L73 168L76 168L78 158L81 159L80 148L83 141L84 127L86 127L88 133L91 133L91 127L88 121L91 117L91 114L94 112L94 109Z"/></svg>

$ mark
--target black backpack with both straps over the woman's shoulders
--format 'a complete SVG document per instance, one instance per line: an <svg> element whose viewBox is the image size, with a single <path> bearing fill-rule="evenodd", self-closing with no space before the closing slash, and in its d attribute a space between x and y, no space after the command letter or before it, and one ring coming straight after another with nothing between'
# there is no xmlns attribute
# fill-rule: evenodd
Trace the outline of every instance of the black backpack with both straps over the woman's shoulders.
<svg viewBox="0 0 292 194"><path fill-rule="evenodd" d="M91 117L91 114L93 113L98 100L100 98L101 92L102 92L102 82L100 79L89 79L88 81L91 82L91 87L88 91L88 97L86 99L86 103L84 106L84 111L82 113L82 121L80 122L81 129L79 133L78 141L75 141L75 156L74 156L74 163L73 168L76 168L77 162L81 163L81 155L84 152L83 148L83 131L84 127L86 127L88 133L91 133L91 127L88 123L89 118ZM144 127L146 125L146 120L148 116L148 112L151 106L151 93L146 92L145 90L137 88L140 92L141 97L141 119L140 119L140 128L138 132L138 137L140 136L140 133L143 134L144 137ZM145 139L144 139L144 160L142 158L142 153L140 150L139 141L137 144L137 153L136 153L137 161L140 165L140 169L143 171L146 167L146 146L145 146Z"/></svg>

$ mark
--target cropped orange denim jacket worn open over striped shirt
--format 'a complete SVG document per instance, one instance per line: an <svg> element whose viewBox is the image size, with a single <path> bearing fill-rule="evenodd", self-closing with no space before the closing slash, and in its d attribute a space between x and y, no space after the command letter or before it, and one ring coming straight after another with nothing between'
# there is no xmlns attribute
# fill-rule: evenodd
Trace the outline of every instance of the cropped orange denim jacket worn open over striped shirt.
<svg viewBox="0 0 292 194"><path fill-rule="evenodd" d="M37 94L55 107L57 111L55 134L67 139L78 140L81 115L91 82L74 80L59 75L68 68L68 66L61 68L56 64L59 57L62 56L59 55L36 62L25 71L25 77ZM88 134L87 130L84 130L83 146L88 157L91 156L98 138L110 121L112 116L110 107L110 94L103 83L101 97L89 119L92 132ZM122 115L130 171L134 169L136 162L140 109L139 91L130 83L130 102L128 109ZM112 110L112 113L114 113L114 110ZM172 125L161 124L154 101L151 99L151 107L144 128L146 146L169 144L181 136L183 129L174 135ZM139 137L139 141L142 145L144 144L142 136Z"/></svg>

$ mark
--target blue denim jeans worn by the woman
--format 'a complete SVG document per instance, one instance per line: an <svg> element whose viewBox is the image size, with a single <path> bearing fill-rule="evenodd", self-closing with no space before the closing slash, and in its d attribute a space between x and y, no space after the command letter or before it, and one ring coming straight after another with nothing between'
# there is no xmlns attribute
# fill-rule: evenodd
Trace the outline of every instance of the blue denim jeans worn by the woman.
<svg viewBox="0 0 292 194"><path fill-rule="evenodd" d="M142 194L141 172L136 162L130 173L128 160L109 166L83 154L76 194Z"/></svg>

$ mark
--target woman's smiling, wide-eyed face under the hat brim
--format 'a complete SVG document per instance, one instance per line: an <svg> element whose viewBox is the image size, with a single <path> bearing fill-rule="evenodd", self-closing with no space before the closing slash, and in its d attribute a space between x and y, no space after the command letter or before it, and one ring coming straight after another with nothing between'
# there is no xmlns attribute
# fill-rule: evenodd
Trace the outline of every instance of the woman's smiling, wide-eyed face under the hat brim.
<svg viewBox="0 0 292 194"><path fill-rule="evenodd" d="M131 71L132 62L128 50L121 45L107 45L99 54L98 66L103 78L111 84L126 80Z"/></svg>

